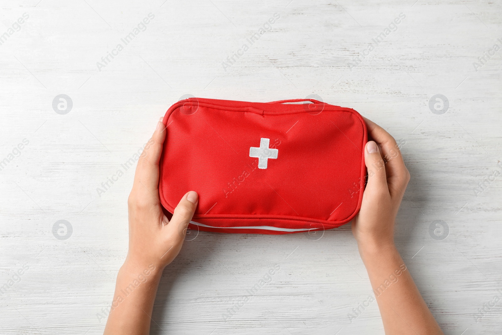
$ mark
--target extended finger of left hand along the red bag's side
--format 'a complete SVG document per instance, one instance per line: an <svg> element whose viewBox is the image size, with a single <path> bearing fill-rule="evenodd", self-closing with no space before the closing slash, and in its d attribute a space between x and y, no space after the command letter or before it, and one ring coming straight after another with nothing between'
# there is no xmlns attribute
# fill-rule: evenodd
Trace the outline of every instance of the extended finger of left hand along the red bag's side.
<svg viewBox="0 0 502 335"><path fill-rule="evenodd" d="M145 145L136 167L135 183L141 182L154 195L158 194L159 161L165 139L166 127L159 121L152 138Z"/></svg>

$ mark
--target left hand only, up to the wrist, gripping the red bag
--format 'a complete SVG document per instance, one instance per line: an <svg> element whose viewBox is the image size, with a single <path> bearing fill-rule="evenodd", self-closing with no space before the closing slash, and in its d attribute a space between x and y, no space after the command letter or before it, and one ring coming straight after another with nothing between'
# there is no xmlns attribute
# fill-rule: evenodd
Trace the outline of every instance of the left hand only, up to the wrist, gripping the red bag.
<svg viewBox="0 0 502 335"><path fill-rule="evenodd" d="M159 199L159 160L166 128L157 124L154 135L140 156L133 189L128 199L129 252L126 263L164 269L180 252L188 223L197 207L197 193L186 193L168 220Z"/></svg>

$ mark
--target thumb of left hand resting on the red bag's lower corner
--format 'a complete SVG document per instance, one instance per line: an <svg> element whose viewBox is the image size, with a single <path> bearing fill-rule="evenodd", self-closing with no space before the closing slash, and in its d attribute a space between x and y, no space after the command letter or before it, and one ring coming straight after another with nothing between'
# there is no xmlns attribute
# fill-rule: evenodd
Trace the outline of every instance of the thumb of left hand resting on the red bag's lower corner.
<svg viewBox="0 0 502 335"><path fill-rule="evenodd" d="M190 191L183 195L180 202L174 208L173 217L167 225L168 235L175 239L183 240L185 238L188 224L195 213L199 196L196 192Z"/></svg>

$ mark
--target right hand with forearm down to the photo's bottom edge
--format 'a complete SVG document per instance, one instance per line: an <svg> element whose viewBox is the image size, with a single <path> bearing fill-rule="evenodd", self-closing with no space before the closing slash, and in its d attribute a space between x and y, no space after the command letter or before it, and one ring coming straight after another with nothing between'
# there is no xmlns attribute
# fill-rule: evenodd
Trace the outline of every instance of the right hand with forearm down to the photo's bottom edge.
<svg viewBox="0 0 502 335"><path fill-rule="evenodd" d="M364 121L373 141L364 149L368 182L352 233L378 301L385 333L442 334L394 245L394 223L410 173L394 138L368 119ZM370 297L369 303L372 301Z"/></svg>

